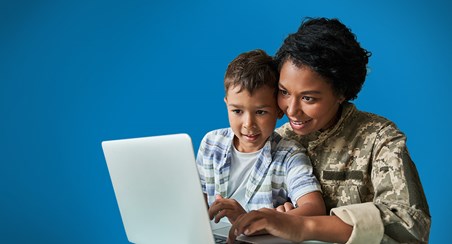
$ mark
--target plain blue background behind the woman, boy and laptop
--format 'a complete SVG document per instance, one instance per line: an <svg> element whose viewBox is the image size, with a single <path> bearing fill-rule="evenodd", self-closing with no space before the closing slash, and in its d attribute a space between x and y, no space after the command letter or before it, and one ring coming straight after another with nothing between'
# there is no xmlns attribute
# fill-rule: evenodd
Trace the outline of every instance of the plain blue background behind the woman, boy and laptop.
<svg viewBox="0 0 452 244"><path fill-rule="evenodd" d="M1 1L0 243L127 243L101 141L186 132L196 150L207 131L228 126L228 62L255 48L273 55L304 16L340 18L372 51L356 104L407 134L431 243L447 240L451 9L448 1Z"/></svg>

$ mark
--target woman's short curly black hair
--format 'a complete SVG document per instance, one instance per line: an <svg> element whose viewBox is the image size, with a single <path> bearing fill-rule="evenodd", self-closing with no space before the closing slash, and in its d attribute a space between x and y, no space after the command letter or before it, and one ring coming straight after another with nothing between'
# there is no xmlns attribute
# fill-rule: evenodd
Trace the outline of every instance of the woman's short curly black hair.
<svg viewBox="0 0 452 244"><path fill-rule="evenodd" d="M275 55L278 68L290 60L308 66L329 82L336 95L356 99L367 74L371 53L338 19L306 18Z"/></svg>

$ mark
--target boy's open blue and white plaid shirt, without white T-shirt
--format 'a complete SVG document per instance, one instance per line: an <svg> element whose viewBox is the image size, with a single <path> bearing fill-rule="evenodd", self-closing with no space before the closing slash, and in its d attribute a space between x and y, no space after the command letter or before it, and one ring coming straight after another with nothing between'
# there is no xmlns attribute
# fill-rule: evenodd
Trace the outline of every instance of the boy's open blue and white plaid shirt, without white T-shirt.
<svg viewBox="0 0 452 244"><path fill-rule="evenodd" d="M230 128L207 133L199 147L196 163L202 189L211 205L215 195L227 192L234 133ZM246 183L245 200L249 210L273 208L290 198L294 204L301 196L321 191L312 172L306 150L294 140L274 132L264 145Z"/></svg>

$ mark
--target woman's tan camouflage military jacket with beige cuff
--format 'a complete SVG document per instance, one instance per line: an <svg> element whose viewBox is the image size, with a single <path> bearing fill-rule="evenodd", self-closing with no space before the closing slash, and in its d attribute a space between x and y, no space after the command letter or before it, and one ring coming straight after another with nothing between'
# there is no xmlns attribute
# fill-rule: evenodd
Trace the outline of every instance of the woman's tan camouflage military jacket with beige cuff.
<svg viewBox="0 0 452 244"><path fill-rule="evenodd" d="M345 103L336 125L325 131L299 136L286 123L277 132L307 148L327 210L351 215L336 214L354 226L348 243L372 234L381 243L428 242L427 200L406 137L394 123Z"/></svg>

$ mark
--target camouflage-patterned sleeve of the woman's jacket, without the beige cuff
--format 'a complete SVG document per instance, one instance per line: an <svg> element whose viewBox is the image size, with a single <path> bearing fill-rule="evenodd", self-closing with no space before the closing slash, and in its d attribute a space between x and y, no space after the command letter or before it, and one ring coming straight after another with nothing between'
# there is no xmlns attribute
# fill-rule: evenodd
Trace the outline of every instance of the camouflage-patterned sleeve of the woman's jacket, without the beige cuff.
<svg viewBox="0 0 452 244"><path fill-rule="evenodd" d="M389 124L374 145L371 179L385 228L382 242L427 243L429 208L405 142L405 135Z"/></svg>

